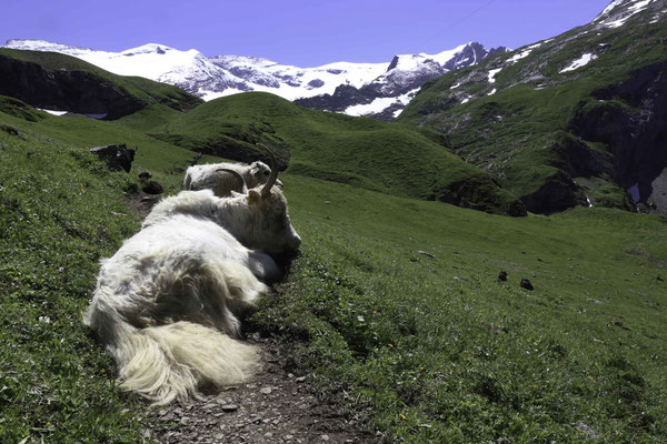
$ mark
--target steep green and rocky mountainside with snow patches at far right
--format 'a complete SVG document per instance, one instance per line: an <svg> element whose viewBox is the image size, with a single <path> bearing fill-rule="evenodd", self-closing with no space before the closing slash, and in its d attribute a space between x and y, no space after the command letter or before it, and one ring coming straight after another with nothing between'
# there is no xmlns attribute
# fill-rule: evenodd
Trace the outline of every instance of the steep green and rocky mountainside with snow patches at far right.
<svg viewBox="0 0 667 444"><path fill-rule="evenodd" d="M665 0L614 1L587 26L427 83L399 121L448 133L529 211L666 213L666 12Z"/></svg>

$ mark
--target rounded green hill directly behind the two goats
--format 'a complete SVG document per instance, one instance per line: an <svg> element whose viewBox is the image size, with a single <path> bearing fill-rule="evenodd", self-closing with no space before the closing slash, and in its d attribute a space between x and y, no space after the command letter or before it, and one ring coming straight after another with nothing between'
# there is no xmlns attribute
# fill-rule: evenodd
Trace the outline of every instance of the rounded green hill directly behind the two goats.
<svg viewBox="0 0 667 444"><path fill-rule="evenodd" d="M446 148L446 139L370 119L312 111L276 95L220 98L178 117L153 137L208 154L249 161L273 147L292 173L396 195L511 215L521 204Z"/></svg>

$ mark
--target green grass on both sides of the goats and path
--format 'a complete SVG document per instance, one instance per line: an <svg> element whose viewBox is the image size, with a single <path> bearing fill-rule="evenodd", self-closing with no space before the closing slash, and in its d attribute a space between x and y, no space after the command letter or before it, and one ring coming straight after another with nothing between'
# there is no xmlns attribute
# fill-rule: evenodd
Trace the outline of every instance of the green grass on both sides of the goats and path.
<svg viewBox="0 0 667 444"><path fill-rule="evenodd" d="M0 441L138 442L143 404L118 392L80 317L98 260L139 226L123 202L133 179L81 145L149 147L129 127L159 122L42 114L0 113ZM153 143L135 169L176 192L172 164L191 152ZM252 323L300 344L291 371L388 442L667 435L665 219L514 219L281 179L302 253Z"/></svg>

